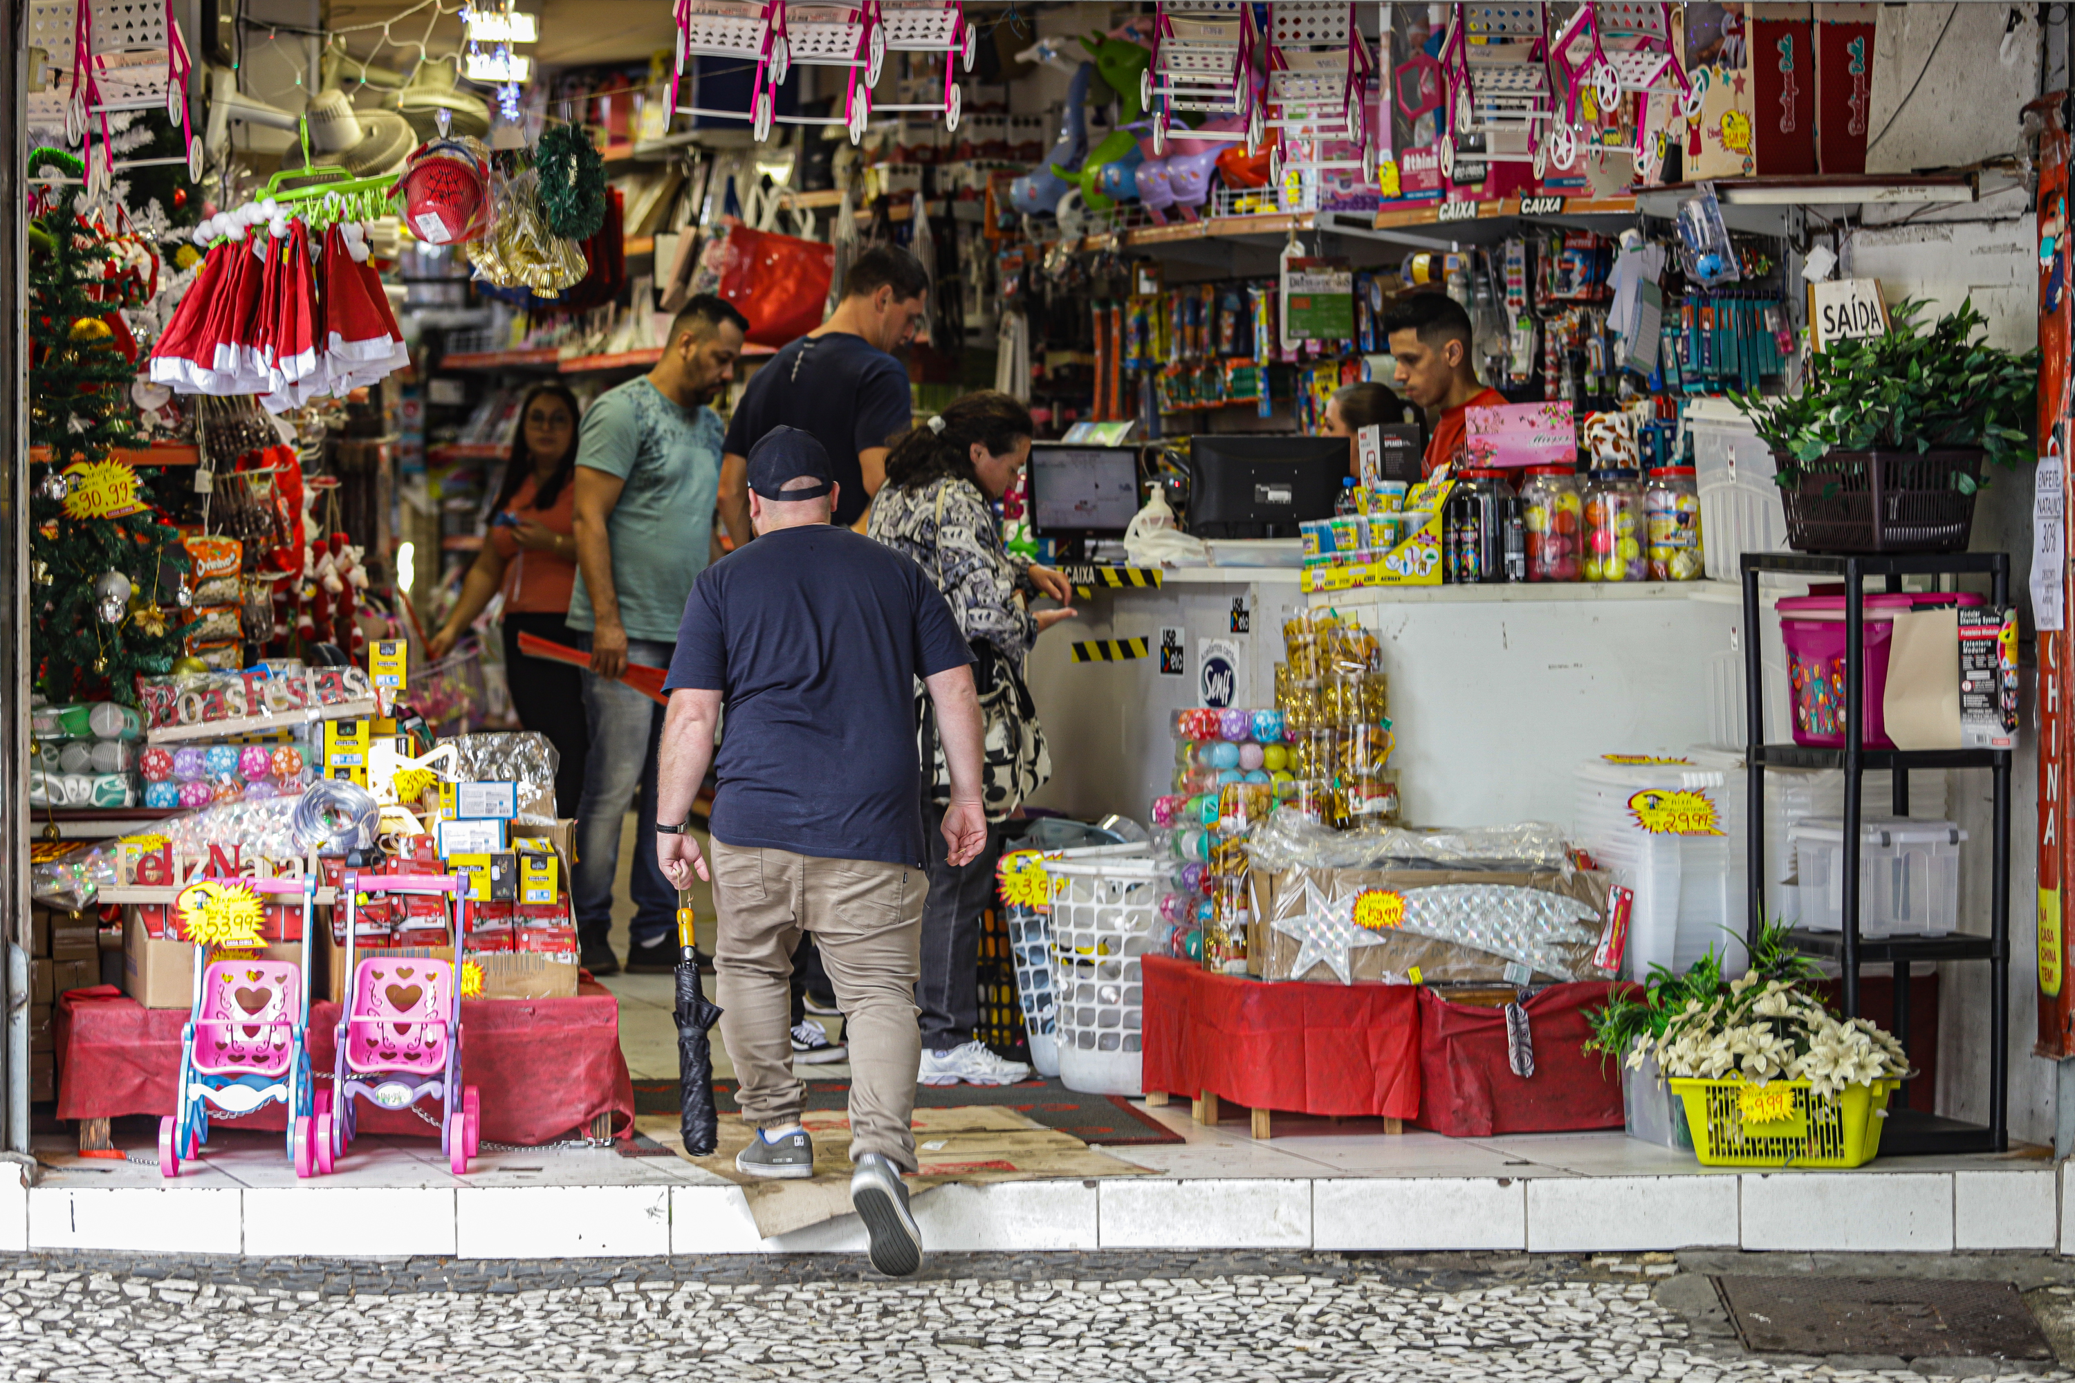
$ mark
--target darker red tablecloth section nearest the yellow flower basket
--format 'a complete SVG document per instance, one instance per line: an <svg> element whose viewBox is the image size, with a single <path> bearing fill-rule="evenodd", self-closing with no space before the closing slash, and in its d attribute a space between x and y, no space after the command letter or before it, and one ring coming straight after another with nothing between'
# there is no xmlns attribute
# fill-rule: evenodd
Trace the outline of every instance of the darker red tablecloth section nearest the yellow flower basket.
<svg viewBox="0 0 2075 1383"><path fill-rule="evenodd" d="M1606 983L1550 985L1523 1006L1536 1074L1506 1064L1506 1010L1419 989L1419 1124L1450 1138L1621 1128L1621 1072L1585 1051Z"/></svg>

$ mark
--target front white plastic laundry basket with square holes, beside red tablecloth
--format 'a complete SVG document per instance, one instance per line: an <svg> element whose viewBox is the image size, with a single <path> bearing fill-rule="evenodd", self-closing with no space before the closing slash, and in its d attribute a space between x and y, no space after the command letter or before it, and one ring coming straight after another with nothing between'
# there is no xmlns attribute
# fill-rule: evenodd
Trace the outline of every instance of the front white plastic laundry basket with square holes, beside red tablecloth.
<svg viewBox="0 0 2075 1383"><path fill-rule="evenodd" d="M1166 867L1141 852L1046 860L1046 873L1058 1078L1085 1095L1141 1095L1139 956L1160 916Z"/></svg>

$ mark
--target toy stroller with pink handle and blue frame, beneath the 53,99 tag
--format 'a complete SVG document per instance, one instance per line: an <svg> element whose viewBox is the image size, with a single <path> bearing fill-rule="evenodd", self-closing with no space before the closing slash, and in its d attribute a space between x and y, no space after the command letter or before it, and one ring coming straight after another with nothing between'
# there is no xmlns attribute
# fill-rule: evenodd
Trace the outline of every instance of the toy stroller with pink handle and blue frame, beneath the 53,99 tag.
<svg viewBox="0 0 2075 1383"><path fill-rule="evenodd" d="M288 1109L288 1157L297 1176L317 1165L309 1078L309 935L315 879L210 879L253 894L303 898L303 962L205 960L195 945L195 991L181 1028L174 1111L158 1122L160 1176L181 1176L210 1138L210 1107L239 1118L280 1101Z"/></svg>

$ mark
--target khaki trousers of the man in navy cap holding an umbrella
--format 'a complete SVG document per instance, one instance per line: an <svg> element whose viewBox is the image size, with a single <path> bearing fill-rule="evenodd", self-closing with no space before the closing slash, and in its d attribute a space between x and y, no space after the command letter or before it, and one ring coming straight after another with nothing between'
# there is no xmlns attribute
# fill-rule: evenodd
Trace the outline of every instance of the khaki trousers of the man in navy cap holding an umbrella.
<svg viewBox="0 0 2075 1383"><path fill-rule="evenodd" d="M930 877L720 840L712 858L720 1039L741 1080L743 1122L780 1128L805 1107L807 1089L793 1078L793 950L811 931L851 1047L851 1159L882 1153L915 1172L915 977Z"/></svg>

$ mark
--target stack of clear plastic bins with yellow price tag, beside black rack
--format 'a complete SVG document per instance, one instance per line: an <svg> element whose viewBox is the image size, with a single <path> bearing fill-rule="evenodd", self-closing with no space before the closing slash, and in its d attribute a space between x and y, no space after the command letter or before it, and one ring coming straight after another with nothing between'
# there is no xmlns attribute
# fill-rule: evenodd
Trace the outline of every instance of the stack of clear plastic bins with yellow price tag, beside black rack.
<svg viewBox="0 0 2075 1383"><path fill-rule="evenodd" d="M1623 972L1645 979L1650 966L1685 970L1710 948L1722 968L1743 975L1745 829L1743 794L1720 769L1675 763L1592 759L1577 769L1575 840L1594 860L1635 890ZM1718 834L1656 834L1643 815L1664 794L1691 792L1714 809ZM1693 823L1687 821L1687 827Z"/></svg>

